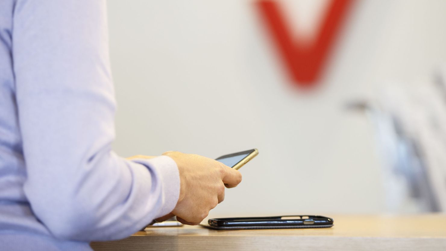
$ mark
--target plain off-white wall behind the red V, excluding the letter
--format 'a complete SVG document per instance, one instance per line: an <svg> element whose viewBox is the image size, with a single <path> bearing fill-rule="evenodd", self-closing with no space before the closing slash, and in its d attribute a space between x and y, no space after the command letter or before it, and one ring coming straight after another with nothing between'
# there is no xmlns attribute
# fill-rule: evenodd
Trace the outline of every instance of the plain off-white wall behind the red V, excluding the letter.
<svg viewBox="0 0 446 251"><path fill-rule="evenodd" d="M211 216L385 210L373 128L344 105L445 61L446 1L358 1L312 92L291 88L252 1L107 2L120 155L258 148ZM327 3L282 2L307 33Z"/></svg>

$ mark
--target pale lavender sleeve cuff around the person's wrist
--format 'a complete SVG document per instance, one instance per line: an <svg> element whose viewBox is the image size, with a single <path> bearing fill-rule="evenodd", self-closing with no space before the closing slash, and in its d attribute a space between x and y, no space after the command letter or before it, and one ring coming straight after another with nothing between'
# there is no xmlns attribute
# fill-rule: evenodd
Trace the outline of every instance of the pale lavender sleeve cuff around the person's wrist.
<svg viewBox="0 0 446 251"><path fill-rule="evenodd" d="M155 218L170 214L180 196L180 173L175 161L168 156L153 159L134 159L133 162L153 169L159 175L162 190L162 206Z"/></svg>

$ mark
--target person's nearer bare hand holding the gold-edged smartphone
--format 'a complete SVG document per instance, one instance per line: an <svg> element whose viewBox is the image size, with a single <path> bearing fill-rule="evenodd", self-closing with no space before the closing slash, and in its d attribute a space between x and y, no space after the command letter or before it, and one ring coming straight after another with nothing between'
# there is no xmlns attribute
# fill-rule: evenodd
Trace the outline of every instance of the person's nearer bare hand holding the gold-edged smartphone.
<svg viewBox="0 0 446 251"><path fill-rule="evenodd" d="M223 163L182 152L165 152L178 166L180 196L172 214L187 225L198 225L207 217L209 210L224 199L225 186L237 186L242 181L239 171Z"/></svg>

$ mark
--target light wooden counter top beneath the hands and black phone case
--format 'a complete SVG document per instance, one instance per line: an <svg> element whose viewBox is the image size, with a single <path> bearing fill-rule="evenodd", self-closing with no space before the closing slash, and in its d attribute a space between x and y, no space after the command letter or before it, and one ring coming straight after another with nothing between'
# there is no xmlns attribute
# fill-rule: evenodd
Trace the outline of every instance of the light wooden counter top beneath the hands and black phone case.
<svg viewBox="0 0 446 251"><path fill-rule="evenodd" d="M332 228L211 230L202 226L152 227L123 240L91 243L91 247L95 251L446 251L446 214L328 216L334 219Z"/></svg>

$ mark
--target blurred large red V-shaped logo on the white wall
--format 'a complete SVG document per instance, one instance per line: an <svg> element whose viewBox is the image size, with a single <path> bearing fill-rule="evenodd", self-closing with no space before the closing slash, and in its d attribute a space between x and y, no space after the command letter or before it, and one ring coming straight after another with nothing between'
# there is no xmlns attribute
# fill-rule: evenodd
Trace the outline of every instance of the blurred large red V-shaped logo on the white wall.
<svg viewBox="0 0 446 251"><path fill-rule="evenodd" d="M257 6L277 46L293 84L310 87L317 83L341 23L353 0L331 0L313 41L293 41L277 1L259 0Z"/></svg>

